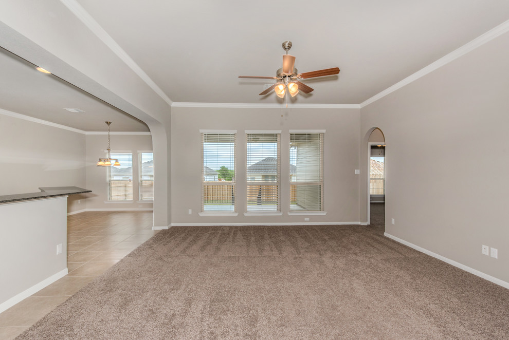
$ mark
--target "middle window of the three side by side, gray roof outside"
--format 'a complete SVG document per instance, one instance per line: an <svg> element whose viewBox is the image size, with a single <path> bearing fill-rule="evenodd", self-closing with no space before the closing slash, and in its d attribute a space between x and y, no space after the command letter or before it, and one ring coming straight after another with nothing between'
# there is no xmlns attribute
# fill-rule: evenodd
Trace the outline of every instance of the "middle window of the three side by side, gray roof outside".
<svg viewBox="0 0 509 340"><path fill-rule="evenodd" d="M280 133L246 131L247 211L279 212Z"/></svg>

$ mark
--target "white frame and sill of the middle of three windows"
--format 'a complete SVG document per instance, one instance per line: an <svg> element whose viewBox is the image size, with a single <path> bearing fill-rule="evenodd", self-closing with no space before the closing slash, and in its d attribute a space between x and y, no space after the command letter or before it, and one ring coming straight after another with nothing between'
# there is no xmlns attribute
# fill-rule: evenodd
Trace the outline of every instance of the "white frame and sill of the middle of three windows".
<svg viewBox="0 0 509 340"><path fill-rule="evenodd" d="M246 140L246 212L244 216L281 216L283 213L281 212L281 130L245 130L245 140ZM249 158L249 150L247 149L248 144L248 136L256 135L256 134L266 134L266 135L276 135L277 139L277 181L252 181L252 176L247 174L247 161ZM252 210L248 211L248 187L249 185L259 184L259 185L277 185L277 195L278 195L278 203L277 210Z"/></svg>

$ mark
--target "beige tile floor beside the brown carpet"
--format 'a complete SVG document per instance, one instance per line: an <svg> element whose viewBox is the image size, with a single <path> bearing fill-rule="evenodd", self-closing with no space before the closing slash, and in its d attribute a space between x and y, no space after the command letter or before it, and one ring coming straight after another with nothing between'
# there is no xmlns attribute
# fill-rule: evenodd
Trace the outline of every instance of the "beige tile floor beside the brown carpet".
<svg viewBox="0 0 509 340"><path fill-rule="evenodd" d="M0 340L21 334L158 231L152 212L85 212L67 217L69 273L0 313Z"/></svg>

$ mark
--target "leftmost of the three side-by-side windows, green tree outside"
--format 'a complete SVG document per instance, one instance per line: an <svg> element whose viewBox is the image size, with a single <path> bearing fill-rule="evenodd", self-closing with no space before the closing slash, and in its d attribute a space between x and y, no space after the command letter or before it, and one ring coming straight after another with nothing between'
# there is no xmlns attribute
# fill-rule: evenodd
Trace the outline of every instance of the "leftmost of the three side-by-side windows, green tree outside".
<svg viewBox="0 0 509 340"><path fill-rule="evenodd" d="M202 212L235 209L235 131L202 131Z"/></svg>

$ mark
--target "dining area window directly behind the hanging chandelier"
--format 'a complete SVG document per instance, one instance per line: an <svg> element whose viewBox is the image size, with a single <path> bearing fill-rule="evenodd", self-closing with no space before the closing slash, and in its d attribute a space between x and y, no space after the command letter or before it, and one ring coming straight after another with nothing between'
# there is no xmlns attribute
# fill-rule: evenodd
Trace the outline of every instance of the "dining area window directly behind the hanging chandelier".
<svg viewBox="0 0 509 340"><path fill-rule="evenodd" d="M106 167L108 182L108 201L133 200L133 154L111 153L120 165Z"/></svg>

